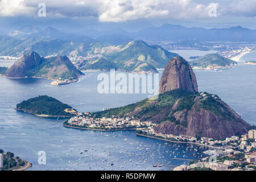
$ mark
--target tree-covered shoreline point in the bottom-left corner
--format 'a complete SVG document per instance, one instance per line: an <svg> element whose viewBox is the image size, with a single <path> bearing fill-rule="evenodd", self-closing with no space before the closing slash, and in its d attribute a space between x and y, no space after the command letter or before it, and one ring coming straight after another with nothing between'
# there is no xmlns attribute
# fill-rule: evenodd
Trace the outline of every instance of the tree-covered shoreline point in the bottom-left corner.
<svg viewBox="0 0 256 182"><path fill-rule="evenodd" d="M0 149L0 170L1 171L24 171L31 167L31 163L14 156L13 152L4 152Z"/></svg>

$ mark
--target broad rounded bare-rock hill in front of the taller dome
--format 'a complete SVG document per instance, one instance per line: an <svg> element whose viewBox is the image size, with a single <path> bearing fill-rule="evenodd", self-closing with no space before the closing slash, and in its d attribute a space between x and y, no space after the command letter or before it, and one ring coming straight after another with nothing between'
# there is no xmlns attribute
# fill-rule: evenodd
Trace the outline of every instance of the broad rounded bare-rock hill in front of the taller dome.
<svg viewBox="0 0 256 182"><path fill-rule="evenodd" d="M184 103L191 103L184 107ZM214 94L183 97L171 107L170 117L155 128L157 133L223 139L247 133L250 125Z"/></svg>

